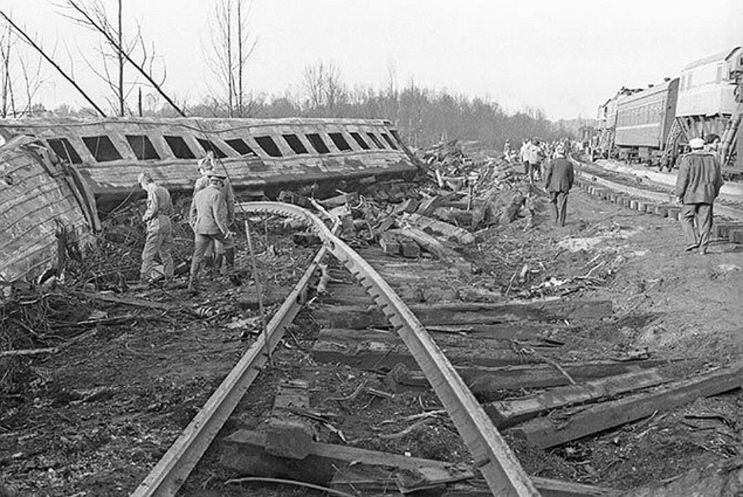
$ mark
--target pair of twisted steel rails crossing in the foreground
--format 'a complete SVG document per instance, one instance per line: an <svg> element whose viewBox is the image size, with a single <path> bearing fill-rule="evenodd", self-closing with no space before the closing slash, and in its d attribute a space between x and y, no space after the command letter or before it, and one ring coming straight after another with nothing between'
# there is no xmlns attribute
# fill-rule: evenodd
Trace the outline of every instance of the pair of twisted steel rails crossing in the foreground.
<svg viewBox="0 0 743 497"><path fill-rule="evenodd" d="M186 426L168 452L132 494L135 497L172 496L186 480L230 413L268 360L268 352L281 340L286 326L302 306L301 295L319 263L330 253L366 289L405 342L432 389L450 415L496 496L539 496L531 478L467 388L450 361L429 337L415 314L384 279L351 247L334 235L321 219L305 209L276 202L241 204L244 212L283 215L303 221L322 239L323 247L273 316L267 330L230 371L204 408Z"/></svg>

